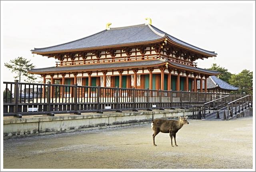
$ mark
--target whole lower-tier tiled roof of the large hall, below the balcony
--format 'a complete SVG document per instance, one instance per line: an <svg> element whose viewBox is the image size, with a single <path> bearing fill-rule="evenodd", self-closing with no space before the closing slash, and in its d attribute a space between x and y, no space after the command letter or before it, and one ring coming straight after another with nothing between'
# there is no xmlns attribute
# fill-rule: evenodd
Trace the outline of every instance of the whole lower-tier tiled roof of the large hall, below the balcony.
<svg viewBox="0 0 256 172"><path fill-rule="evenodd" d="M143 61L131 61L131 62L118 62L118 63L103 63L92 65L74 65L74 66L58 66L48 68L33 68L29 72L34 74L48 74L48 73L64 73L64 72L88 72L88 71L101 71L101 70L118 70L127 68L143 67L156 67L166 65L168 62L171 68L180 68L182 70L189 70L191 72L204 73L209 75L218 74L215 70L206 70L202 68L196 68L194 66L182 65L165 60L143 60Z"/></svg>

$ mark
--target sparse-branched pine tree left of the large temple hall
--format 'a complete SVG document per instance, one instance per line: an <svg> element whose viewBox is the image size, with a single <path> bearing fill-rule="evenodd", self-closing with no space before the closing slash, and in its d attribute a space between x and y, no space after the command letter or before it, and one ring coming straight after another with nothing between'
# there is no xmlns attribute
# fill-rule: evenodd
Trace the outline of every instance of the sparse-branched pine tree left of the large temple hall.
<svg viewBox="0 0 256 172"><path fill-rule="evenodd" d="M4 63L4 66L17 74L17 76L15 76L14 78L18 78L19 82L22 76L25 77L25 82L33 82L34 80L36 80L36 77L28 72L28 70L34 68L35 66L30 63L30 60L26 58L18 57L14 60L10 60L10 63Z"/></svg>

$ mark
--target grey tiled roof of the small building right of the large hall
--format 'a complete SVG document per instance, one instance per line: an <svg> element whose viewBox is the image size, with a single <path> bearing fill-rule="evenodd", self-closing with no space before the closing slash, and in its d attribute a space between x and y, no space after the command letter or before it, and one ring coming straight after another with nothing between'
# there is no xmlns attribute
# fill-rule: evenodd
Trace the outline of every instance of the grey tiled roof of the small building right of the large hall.
<svg viewBox="0 0 256 172"><path fill-rule="evenodd" d="M204 85L204 80L202 84ZM219 87L222 90L238 90L237 87L228 84L227 82L225 82L224 80L221 80L217 76L210 76L209 78L207 78L206 84L207 84L207 89L213 89L213 88ZM200 89L200 81L197 82L197 89Z"/></svg>

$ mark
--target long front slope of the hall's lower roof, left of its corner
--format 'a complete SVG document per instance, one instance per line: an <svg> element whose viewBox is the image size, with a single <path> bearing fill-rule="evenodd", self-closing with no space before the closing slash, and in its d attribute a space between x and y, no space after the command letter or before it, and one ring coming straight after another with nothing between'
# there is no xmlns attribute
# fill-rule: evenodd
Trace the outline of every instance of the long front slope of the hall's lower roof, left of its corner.
<svg viewBox="0 0 256 172"><path fill-rule="evenodd" d="M65 72L65 71L90 71L90 70L102 70L111 68L132 68L136 66L154 66L166 63L166 61L160 60L145 60L145 61L133 61L133 62L121 62L121 63L105 63L94 65L80 65L80 66L61 66L61 67L48 67L48 68L33 68L31 73L47 73L47 72Z"/></svg>

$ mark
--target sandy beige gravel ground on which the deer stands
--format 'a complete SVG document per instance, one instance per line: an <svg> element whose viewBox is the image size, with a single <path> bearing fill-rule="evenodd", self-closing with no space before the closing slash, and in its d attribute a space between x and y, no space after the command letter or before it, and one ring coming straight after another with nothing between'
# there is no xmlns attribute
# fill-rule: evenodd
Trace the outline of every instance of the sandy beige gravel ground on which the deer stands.
<svg viewBox="0 0 256 172"><path fill-rule="evenodd" d="M252 117L188 119L170 146L150 124L4 140L4 168L252 168Z"/></svg>

